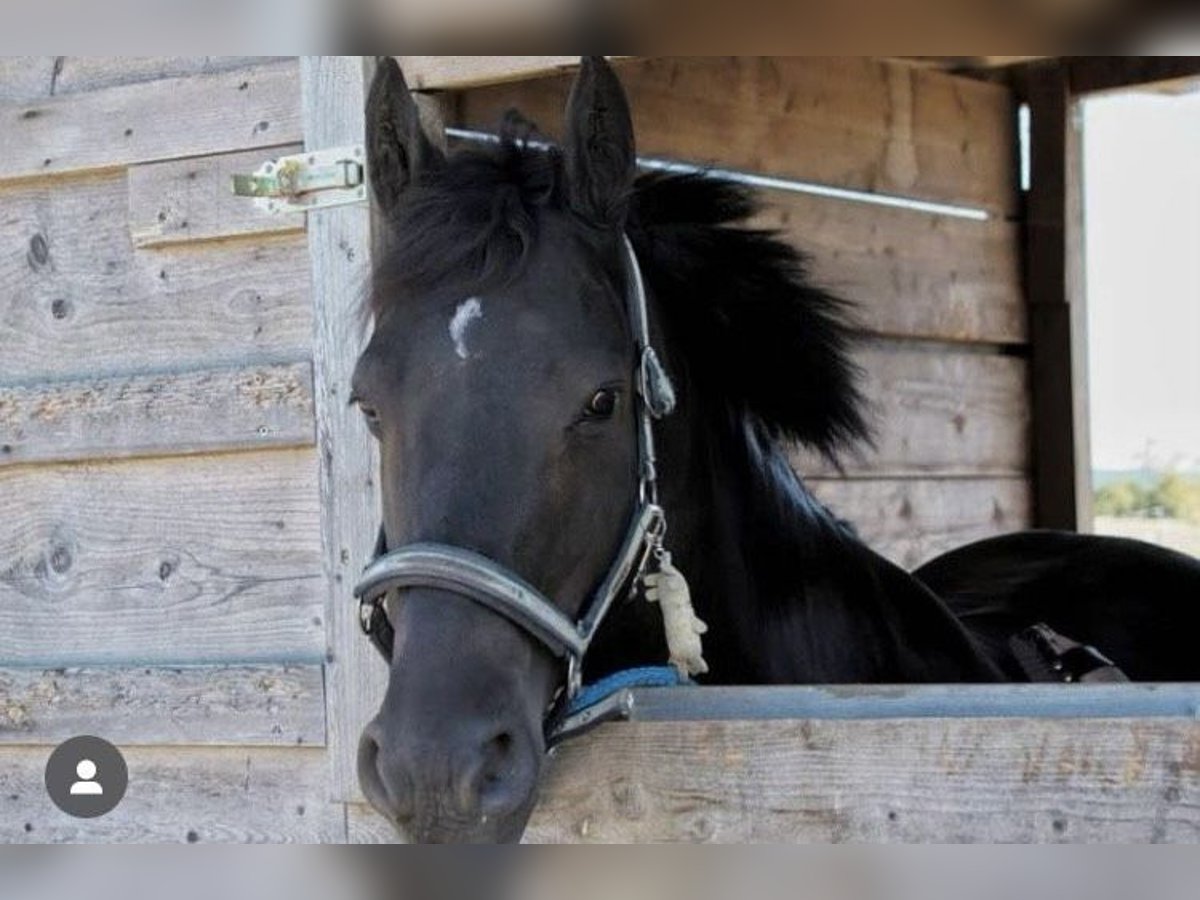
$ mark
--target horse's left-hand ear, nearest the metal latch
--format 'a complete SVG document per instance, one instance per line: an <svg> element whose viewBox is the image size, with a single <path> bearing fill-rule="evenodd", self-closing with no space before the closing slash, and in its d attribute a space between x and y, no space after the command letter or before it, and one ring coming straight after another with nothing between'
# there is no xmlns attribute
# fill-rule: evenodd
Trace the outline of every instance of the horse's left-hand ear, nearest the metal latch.
<svg viewBox="0 0 1200 900"><path fill-rule="evenodd" d="M421 127L421 114L392 56L377 56L367 96L367 166L376 200L385 214L420 172L445 156Z"/></svg>

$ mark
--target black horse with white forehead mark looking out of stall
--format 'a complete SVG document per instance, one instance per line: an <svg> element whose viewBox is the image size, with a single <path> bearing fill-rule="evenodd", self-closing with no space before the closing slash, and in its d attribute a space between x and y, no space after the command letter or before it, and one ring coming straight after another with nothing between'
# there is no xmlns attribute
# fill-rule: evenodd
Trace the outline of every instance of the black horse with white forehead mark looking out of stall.
<svg viewBox="0 0 1200 900"><path fill-rule="evenodd" d="M869 438L847 307L798 251L738 226L744 190L636 176L601 58L560 149L530 148L512 118L448 156L390 58L367 128L389 234L354 396L379 443L380 552L412 577L367 607L390 678L359 774L409 836L520 838L547 713L574 688L554 622L616 598L584 680L666 658L646 550L690 581L707 683L1027 680L1010 637L1034 623L1129 678L1200 679L1194 559L1026 533L908 574L812 498L785 443L836 458ZM650 508L665 544L659 518L630 526Z"/></svg>

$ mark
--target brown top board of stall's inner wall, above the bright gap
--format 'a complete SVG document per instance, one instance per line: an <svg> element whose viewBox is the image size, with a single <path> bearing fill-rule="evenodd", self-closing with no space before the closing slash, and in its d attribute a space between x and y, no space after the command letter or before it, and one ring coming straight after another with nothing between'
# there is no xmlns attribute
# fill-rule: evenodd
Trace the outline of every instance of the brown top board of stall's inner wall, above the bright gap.
<svg viewBox="0 0 1200 900"><path fill-rule="evenodd" d="M1016 206L1008 88L865 56L617 64L641 154L1001 211ZM521 109L562 128L569 76L475 88L461 125Z"/></svg>

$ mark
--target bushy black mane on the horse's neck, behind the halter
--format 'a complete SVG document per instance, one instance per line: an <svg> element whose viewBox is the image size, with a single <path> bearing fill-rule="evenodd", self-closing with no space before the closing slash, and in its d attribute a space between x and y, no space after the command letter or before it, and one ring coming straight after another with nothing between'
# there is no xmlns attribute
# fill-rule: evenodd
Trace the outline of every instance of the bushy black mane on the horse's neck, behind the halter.
<svg viewBox="0 0 1200 900"><path fill-rule="evenodd" d="M757 210L730 181L643 175L630 232L685 380L770 438L835 460L869 439L850 305L810 283L800 251L739 224Z"/></svg>

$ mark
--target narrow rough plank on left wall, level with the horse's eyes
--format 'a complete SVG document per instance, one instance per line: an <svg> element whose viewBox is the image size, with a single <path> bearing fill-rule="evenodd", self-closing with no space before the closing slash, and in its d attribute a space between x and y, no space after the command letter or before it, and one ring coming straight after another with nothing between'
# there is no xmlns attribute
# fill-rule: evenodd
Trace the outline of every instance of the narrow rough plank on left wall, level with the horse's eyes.
<svg viewBox="0 0 1200 900"><path fill-rule="evenodd" d="M307 361L0 384L0 466L312 443Z"/></svg>

